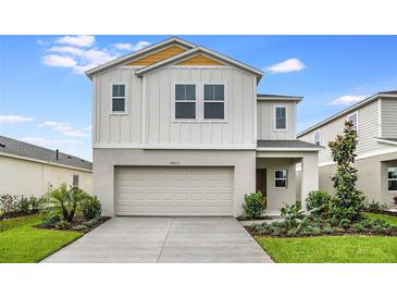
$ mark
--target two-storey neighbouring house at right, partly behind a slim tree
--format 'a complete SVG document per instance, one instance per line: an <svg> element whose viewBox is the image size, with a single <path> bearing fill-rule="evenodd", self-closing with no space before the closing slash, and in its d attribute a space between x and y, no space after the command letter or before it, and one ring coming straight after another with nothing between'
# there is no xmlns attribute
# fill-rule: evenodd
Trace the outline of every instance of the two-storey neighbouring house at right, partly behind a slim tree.
<svg viewBox="0 0 397 298"><path fill-rule="evenodd" d="M335 164L327 146L352 121L358 133L358 188L368 200L390 204L397 196L397 91L379 92L298 134L325 147L319 153L320 189L332 191Z"/></svg>

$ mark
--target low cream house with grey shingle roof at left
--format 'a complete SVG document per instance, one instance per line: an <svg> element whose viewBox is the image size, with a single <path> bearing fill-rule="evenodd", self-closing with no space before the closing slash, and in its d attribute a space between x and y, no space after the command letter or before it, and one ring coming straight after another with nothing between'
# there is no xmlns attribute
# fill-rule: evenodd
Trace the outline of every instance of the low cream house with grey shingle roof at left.
<svg viewBox="0 0 397 298"><path fill-rule="evenodd" d="M92 163L0 136L0 195L42 196L62 183L92 193Z"/></svg>

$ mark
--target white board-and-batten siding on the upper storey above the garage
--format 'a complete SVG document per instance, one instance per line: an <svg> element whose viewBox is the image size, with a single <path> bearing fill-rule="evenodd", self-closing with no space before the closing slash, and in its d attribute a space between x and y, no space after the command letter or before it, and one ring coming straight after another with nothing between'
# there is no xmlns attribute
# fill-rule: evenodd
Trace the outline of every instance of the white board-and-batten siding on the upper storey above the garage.
<svg viewBox="0 0 397 298"><path fill-rule="evenodd" d="M247 145L256 144L256 76L226 66L169 66L135 75L114 69L94 78L94 146ZM126 85L125 114L111 113L111 84ZM174 121L174 85L197 84L197 105L203 113L203 84L225 84L225 120ZM145 121L146 119L146 121ZM144 123L145 122L145 123Z"/></svg>

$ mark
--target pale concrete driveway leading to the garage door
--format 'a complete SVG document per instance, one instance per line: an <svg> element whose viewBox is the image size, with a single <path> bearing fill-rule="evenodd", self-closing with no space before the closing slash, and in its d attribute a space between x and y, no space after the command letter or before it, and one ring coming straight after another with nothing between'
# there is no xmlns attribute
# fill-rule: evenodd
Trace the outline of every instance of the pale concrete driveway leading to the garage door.
<svg viewBox="0 0 397 298"><path fill-rule="evenodd" d="M42 262L272 262L232 218L113 218Z"/></svg>

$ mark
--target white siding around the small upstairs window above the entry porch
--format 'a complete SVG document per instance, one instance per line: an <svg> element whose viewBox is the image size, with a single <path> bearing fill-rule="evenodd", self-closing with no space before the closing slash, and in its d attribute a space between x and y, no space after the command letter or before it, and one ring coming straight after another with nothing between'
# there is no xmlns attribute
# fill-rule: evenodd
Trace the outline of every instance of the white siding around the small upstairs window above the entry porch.
<svg viewBox="0 0 397 298"><path fill-rule="evenodd" d="M287 129L275 129L275 108L286 107ZM296 102L295 101L258 101L258 139L295 139Z"/></svg>

